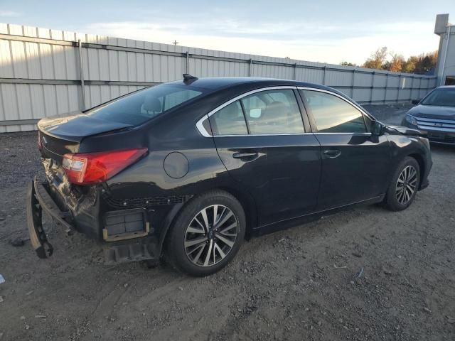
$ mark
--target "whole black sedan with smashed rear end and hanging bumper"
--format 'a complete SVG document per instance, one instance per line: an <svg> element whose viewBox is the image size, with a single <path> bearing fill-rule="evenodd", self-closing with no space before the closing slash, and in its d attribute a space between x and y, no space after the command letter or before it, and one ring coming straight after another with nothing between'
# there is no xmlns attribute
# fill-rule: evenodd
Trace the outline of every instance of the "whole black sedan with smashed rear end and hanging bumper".
<svg viewBox="0 0 455 341"><path fill-rule="evenodd" d="M291 80L184 75L38 129L45 178L27 199L38 256L53 253L44 210L109 262L164 256L194 276L222 269L253 234L355 204L404 210L432 167L419 131Z"/></svg>

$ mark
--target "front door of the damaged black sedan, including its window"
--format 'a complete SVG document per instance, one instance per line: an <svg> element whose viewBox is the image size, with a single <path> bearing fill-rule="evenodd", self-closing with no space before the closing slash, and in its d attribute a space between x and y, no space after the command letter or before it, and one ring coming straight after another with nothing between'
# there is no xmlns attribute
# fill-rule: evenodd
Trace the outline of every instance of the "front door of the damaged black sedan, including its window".
<svg viewBox="0 0 455 341"><path fill-rule="evenodd" d="M300 88L299 91L316 139L321 144L317 210L340 207L385 193L390 162L387 137L371 134L372 120L345 97L314 88Z"/></svg>

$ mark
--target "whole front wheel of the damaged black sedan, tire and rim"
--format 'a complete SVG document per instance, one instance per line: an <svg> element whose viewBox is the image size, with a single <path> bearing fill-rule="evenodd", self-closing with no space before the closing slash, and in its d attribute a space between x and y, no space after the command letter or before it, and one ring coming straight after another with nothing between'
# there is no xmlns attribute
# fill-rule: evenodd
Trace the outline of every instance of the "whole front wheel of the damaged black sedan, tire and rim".
<svg viewBox="0 0 455 341"><path fill-rule="evenodd" d="M385 206L392 211L407 209L414 201L420 183L420 168L415 158L407 156L392 176Z"/></svg>

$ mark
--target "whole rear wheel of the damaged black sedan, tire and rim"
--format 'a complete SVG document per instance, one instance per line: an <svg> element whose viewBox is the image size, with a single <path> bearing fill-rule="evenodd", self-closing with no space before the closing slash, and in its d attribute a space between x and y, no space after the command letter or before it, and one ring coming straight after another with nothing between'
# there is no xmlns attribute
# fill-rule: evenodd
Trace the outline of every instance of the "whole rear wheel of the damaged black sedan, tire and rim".
<svg viewBox="0 0 455 341"><path fill-rule="evenodd" d="M223 269L245 238L245 212L235 197L214 190L183 207L167 239L165 256L171 265L191 276Z"/></svg>

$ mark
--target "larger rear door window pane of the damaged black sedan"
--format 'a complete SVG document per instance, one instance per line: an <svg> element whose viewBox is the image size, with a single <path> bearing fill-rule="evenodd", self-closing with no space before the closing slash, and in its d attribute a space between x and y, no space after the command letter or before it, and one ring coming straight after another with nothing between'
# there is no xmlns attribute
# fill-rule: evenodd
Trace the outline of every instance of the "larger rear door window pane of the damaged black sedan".
<svg viewBox="0 0 455 341"><path fill-rule="evenodd" d="M304 133L294 91L277 89L256 92L242 98L250 134Z"/></svg>

